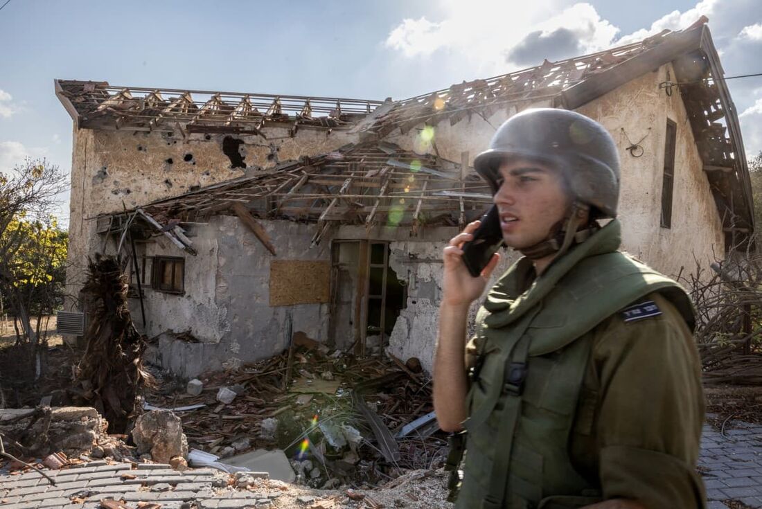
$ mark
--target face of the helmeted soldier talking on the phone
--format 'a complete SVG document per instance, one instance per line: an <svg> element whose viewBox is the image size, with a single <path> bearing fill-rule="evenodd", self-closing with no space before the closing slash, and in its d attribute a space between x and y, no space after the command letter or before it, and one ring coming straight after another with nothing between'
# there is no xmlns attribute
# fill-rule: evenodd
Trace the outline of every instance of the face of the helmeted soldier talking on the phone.
<svg viewBox="0 0 762 509"><path fill-rule="evenodd" d="M559 171L522 158L503 162L499 171L493 200L506 245L523 249L543 242L570 206Z"/></svg>

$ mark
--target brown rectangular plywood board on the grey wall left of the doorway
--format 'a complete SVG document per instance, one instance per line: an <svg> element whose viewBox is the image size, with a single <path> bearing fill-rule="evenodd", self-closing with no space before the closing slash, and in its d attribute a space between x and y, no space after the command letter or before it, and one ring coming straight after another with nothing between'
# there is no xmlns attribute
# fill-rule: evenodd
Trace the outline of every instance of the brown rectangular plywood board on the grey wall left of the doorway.
<svg viewBox="0 0 762 509"><path fill-rule="evenodd" d="M331 262L273 260L270 262L270 305L328 303Z"/></svg>

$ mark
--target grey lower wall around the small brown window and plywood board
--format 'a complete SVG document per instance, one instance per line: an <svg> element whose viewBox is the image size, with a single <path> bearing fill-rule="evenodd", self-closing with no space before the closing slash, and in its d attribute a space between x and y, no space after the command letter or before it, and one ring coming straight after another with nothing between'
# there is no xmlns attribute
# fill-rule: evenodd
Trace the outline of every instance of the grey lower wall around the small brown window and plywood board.
<svg viewBox="0 0 762 509"><path fill-rule="evenodd" d="M326 245L307 249L314 225L261 221L278 260L330 260ZM205 370L239 367L279 354L292 331L310 338L328 335L328 304L270 306L270 262L273 256L238 219L214 216L191 232L198 255L182 253L159 240L146 255L184 256L184 294L145 291L146 335L158 338L152 360L181 376ZM131 312L139 317L139 301ZM197 341L174 338L190 332Z"/></svg>

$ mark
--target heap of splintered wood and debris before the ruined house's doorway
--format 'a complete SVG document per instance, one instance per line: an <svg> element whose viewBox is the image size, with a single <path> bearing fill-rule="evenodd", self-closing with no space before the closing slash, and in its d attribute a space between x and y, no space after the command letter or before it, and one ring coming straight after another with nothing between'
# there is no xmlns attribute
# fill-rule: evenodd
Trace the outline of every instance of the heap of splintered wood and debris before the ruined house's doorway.
<svg viewBox="0 0 762 509"><path fill-rule="evenodd" d="M200 450L248 466L282 450L294 482L313 488L370 488L443 465L447 441L417 360L359 358L294 338L291 351L237 370L160 380L146 408L175 411L191 460Z"/></svg>

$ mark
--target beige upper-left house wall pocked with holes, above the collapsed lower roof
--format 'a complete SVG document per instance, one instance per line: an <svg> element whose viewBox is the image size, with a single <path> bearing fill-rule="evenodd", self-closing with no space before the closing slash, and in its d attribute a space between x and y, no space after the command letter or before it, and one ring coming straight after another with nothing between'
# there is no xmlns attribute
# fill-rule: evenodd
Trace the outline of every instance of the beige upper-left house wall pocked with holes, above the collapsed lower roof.
<svg viewBox="0 0 762 509"><path fill-rule="evenodd" d="M342 131L303 128L289 136L286 128L271 127L267 139L241 139L239 154L247 168L232 168L223 152L223 134L74 130L72 197L70 202L69 295L76 296L84 281L88 255L103 251L95 233L101 213L118 212L155 200L184 194L197 187L228 181L273 168L279 162L330 152L356 140ZM112 251L113 252L113 251ZM67 303L75 309L73 300Z"/></svg>

